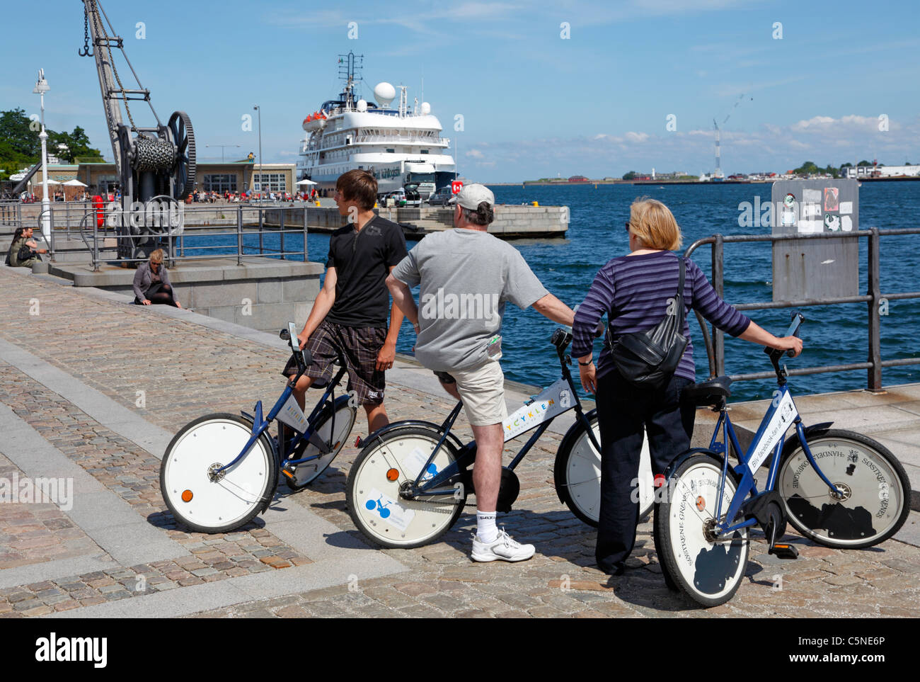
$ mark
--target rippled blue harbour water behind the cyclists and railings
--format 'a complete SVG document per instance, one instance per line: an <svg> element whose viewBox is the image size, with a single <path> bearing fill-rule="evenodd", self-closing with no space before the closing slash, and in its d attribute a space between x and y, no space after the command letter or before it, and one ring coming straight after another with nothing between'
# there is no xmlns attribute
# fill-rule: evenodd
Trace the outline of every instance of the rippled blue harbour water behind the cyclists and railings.
<svg viewBox="0 0 920 682"><path fill-rule="evenodd" d="M639 195L665 202L673 211L684 234L684 249L700 237L767 234L769 226L739 226L739 203L768 202L769 184L751 185L599 185L566 186L496 186L496 201L508 204L539 202L540 205L568 205L569 232L565 239L515 240L535 274L546 288L573 306L583 299L596 272L604 262L628 252L624 223L629 218L629 204ZM912 227L913 216L920 213L920 183L864 183L859 191L860 226L866 229ZM196 237L209 238L209 237ZM211 239L217 237L210 237ZM277 238L277 237L274 237ZM303 242L299 234L285 235L285 249L298 249ZM859 240L860 293L866 291L866 240ZM213 241L211 242L213 243ZM186 252L194 242L186 240ZM267 238L266 246L270 246ZM412 244L410 243L409 248ZM920 289L917 268L917 236L885 237L881 240L881 291L895 293ZM325 262L328 235L307 237L308 258ZM236 248L234 247L234 250ZM694 260L710 272L708 247L696 250ZM772 256L768 243L730 244L725 248L725 298L730 303L770 301L772 297ZM801 336L805 352L787 359L788 366L863 362L868 357L866 304L809 306L801 310L806 318ZM885 360L915 357L920 354L920 301L891 301L888 315L881 318L881 353ZM751 317L765 329L782 333L788 327L788 310L758 310ZM302 320L298 320L298 324ZM502 329L502 367L505 376L525 384L547 385L558 378L555 353L549 345L554 323L533 310L506 308ZM706 352L699 326L691 318L695 342L696 377L708 373ZM400 334L397 350L411 353L415 336L408 323ZM600 341L595 353L600 351ZM729 374L768 371L769 362L759 346L745 341L726 340L726 369ZM882 372L886 385L920 380L920 367L888 367ZM795 393L823 393L866 386L866 371L796 376L790 379ZM732 387L735 399L768 397L776 382L746 381Z"/></svg>

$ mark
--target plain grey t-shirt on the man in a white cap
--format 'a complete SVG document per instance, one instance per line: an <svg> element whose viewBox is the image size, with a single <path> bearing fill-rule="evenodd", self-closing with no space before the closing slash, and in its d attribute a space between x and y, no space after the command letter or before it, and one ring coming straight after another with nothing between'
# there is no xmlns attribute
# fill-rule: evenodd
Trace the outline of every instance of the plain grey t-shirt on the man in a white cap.
<svg viewBox="0 0 920 682"><path fill-rule="evenodd" d="M408 286L421 284L415 356L439 372L485 364L505 302L524 309L547 294L520 251L466 228L428 235L392 274Z"/></svg>

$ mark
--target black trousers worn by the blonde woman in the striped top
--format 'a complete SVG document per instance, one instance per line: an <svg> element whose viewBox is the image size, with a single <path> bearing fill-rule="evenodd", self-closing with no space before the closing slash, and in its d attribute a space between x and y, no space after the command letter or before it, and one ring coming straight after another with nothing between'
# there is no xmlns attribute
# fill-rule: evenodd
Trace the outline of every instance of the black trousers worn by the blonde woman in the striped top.
<svg viewBox="0 0 920 682"><path fill-rule="evenodd" d="M601 430L601 510L595 557L607 573L617 571L636 543L638 464L643 431L649 433L652 473L663 474L690 447L695 408L682 406L681 391L692 384L673 376L661 390L634 387L616 370L597 382ZM633 501L636 498L636 501Z"/></svg>

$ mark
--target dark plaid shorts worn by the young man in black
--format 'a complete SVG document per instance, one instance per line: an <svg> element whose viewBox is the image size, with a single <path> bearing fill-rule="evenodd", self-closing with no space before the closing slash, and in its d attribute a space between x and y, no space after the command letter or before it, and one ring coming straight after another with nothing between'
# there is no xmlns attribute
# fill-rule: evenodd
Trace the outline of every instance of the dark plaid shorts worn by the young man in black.
<svg viewBox="0 0 920 682"><path fill-rule="evenodd" d="M386 340L385 327L345 327L324 319L306 342L313 364L305 375L314 379L312 386L323 387L332 379L332 364L345 356L348 369L348 390L357 394L362 405L379 405L384 401L384 372L377 370L377 353ZM297 374L297 362L288 360L283 376Z"/></svg>

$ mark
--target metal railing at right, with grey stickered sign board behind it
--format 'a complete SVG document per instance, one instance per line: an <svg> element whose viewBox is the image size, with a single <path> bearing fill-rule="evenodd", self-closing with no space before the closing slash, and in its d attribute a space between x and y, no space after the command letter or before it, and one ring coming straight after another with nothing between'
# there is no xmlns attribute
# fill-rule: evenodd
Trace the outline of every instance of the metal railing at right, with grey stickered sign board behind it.
<svg viewBox="0 0 920 682"><path fill-rule="evenodd" d="M898 358L894 360L881 359L880 345L880 303L882 300L897 301L910 298L920 298L920 292L897 292L893 294L882 294L880 286L880 238L891 237L896 235L920 235L920 227L909 227L903 229L886 229L880 230L878 227L871 227L868 230L858 230L857 232L827 232L817 235L712 235L697 239L685 251L684 256L690 256L697 248L704 244L712 245L712 286L719 297L724 297L724 245L731 243L755 242L755 241L792 241L799 239L868 239L868 293L855 296L839 296L834 298L805 298L798 301L773 301L769 303L742 303L735 305L738 310L765 310L773 308L791 308L803 306L834 306L845 303L866 303L868 313L868 359L864 363L847 363L847 364L823 364L814 367L803 367L799 369L790 369L790 376L822 374L825 372L846 372L852 370L867 370L867 388L870 391L880 391L881 387L881 370L883 367L896 367L907 364L920 364L920 357ZM710 337L706 327L706 322L698 311L696 319L699 322L700 329L703 331L703 341L706 345L706 353L709 362L709 376L722 376L725 374L725 334L720 329L712 327ZM734 381L749 381L753 379L765 379L774 376L773 372L751 372L747 374L730 375Z"/></svg>

